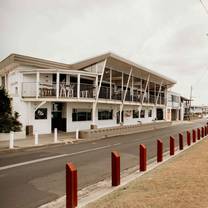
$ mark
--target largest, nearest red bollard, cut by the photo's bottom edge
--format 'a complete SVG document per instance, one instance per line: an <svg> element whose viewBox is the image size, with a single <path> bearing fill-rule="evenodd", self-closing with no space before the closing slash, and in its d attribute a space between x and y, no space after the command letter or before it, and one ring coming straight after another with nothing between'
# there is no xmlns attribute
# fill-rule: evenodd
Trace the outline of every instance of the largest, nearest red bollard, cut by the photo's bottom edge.
<svg viewBox="0 0 208 208"><path fill-rule="evenodd" d="M77 207L77 169L71 162L66 164L66 208Z"/></svg>

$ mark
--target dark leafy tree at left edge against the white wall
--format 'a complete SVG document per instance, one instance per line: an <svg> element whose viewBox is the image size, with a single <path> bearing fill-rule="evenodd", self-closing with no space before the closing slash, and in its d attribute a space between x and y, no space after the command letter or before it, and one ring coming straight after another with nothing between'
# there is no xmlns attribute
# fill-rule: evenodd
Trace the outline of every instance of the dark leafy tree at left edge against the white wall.
<svg viewBox="0 0 208 208"><path fill-rule="evenodd" d="M22 124L18 121L19 114L12 115L11 98L4 88L0 88L0 133L21 131Z"/></svg>

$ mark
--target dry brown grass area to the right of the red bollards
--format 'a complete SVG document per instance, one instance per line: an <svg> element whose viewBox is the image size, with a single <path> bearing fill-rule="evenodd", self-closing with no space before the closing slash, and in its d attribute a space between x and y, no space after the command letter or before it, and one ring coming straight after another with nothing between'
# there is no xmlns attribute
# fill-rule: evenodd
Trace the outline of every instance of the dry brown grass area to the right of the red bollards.
<svg viewBox="0 0 208 208"><path fill-rule="evenodd" d="M88 208L207 208L208 140L204 140L153 171Z"/></svg>

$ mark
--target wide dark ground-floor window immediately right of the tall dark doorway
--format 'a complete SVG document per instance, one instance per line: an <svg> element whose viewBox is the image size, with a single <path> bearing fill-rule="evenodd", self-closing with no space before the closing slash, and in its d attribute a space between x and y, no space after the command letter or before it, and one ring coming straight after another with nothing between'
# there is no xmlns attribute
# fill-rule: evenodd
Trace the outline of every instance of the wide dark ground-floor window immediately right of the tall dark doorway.
<svg viewBox="0 0 208 208"><path fill-rule="evenodd" d="M92 110L91 109L73 109L72 121L91 121Z"/></svg>

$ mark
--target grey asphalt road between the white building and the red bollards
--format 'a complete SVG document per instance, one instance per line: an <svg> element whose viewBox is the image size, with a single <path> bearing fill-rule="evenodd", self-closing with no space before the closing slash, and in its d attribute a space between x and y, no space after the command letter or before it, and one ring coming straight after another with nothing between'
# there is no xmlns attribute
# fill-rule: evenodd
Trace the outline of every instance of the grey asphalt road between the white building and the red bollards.
<svg viewBox="0 0 208 208"><path fill-rule="evenodd" d="M0 153L0 207L34 208L63 196L67 161L76 164L81 189L110 176L112 150L120 152L121 169L124 170L138 164L139 144L146 144L150 159L156 156L157 138L162 138L164 151L167 151L169 136L178 138L178 132L202 125L205 121L198 120L97 141Z"/></svg>

